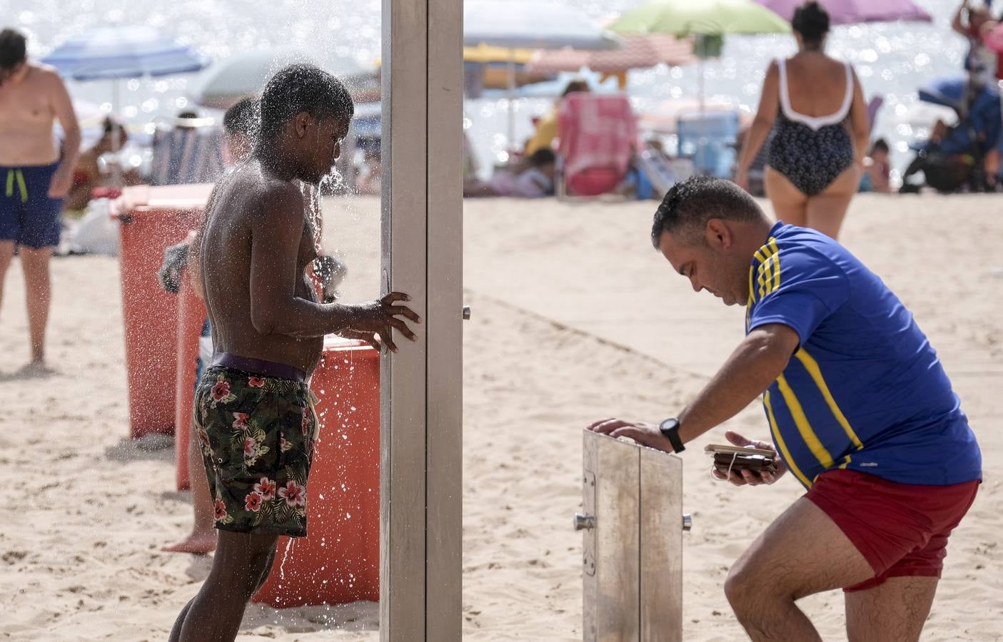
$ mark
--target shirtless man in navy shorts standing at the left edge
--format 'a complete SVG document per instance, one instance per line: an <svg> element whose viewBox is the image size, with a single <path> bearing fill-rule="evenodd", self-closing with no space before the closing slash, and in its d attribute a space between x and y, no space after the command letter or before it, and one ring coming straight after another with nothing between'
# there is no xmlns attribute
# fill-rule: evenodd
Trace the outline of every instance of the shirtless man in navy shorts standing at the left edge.
<svg viewBox="0 0 1003 642"><path fill-rule="evenodd" d="M56 119L65 132L61 155L52 135ZM21 33L0 31L0 300L19 246L31 338L24 372L29 374L45 370L49 258L59 244L62 199L79 150L80 127L59 75L27 59Z"/></svg>

